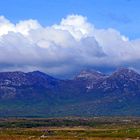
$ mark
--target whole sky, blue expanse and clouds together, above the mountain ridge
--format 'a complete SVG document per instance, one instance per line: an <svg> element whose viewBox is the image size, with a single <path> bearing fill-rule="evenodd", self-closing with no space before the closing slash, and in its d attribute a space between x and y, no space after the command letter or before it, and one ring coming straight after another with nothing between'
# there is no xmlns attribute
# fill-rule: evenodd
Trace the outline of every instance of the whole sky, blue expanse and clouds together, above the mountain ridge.
<svg viewBox="0 0 140 140"><path fill-rule="evenodd" d="M1 0L0 70L71 77L140 71L139 0Z"/></svg>

